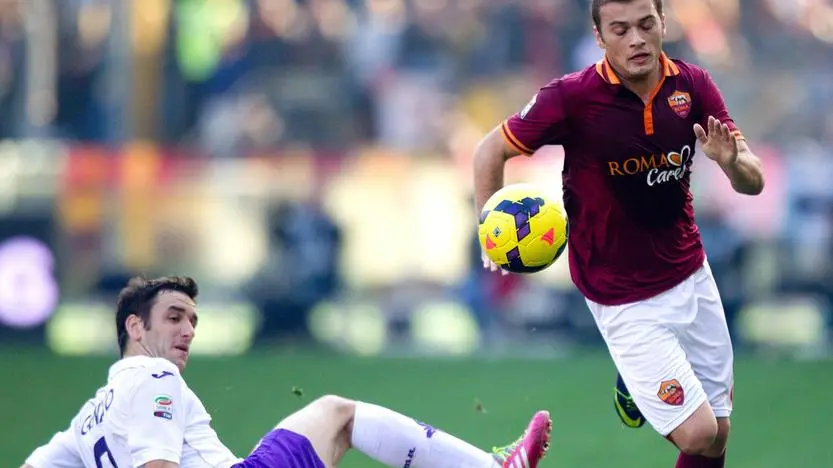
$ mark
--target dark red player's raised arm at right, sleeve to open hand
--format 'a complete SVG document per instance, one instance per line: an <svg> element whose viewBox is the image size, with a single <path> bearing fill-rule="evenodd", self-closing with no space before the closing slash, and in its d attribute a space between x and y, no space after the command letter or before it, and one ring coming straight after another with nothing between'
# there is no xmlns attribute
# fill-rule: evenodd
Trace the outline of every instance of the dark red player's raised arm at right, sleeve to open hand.
<svg viewBox="0 0 833 468"><path fill-rule="evenodd" d="M720 166L736 192L758 195L764 189L761 160L749 148L729 116L720 90L705 71L701 96L703 113L694 127L694 133L703 145L703 152Z"/></svg>

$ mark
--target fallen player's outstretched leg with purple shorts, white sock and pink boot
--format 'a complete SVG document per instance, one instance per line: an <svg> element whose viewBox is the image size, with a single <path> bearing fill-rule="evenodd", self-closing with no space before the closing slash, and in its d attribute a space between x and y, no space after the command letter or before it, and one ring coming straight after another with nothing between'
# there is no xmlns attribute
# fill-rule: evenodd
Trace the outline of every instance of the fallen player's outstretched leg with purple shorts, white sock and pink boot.
<svg viewBox="0 0 833 468"><path fill-rule="evenodd" d="M387 408L325 396L281 421L250 458L270 468L331 468L355 448L391 467L491 468L519 463L516 466L533 468L546 452L550 427L549 415L539 412L525 436L489 454Z"/></svg>

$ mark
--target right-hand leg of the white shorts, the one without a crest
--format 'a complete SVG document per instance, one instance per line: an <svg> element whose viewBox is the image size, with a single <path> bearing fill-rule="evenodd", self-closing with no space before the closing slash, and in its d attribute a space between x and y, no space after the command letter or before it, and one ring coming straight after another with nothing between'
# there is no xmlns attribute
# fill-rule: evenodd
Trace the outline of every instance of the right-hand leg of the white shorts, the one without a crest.
<svg viewBox="0 0 833 468"><path fill-rule="evenodd" d="M711 270L705 268L698 273L702 274L694 278L696 316L681 334L680 342L715 416L729 417L734 379L732 339Z"/></svg>

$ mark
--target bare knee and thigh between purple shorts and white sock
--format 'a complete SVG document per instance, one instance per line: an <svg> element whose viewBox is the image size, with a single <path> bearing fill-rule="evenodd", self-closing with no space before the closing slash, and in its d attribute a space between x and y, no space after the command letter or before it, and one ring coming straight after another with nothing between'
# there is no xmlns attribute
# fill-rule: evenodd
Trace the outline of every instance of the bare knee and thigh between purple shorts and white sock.
<svg viewBox="0 0 833 468"><path fill-rule="evenodd" d="M306 437L328 467L335 466L349 446L355 404L345 398L324 396L287 416L277 429Z"/></svg>

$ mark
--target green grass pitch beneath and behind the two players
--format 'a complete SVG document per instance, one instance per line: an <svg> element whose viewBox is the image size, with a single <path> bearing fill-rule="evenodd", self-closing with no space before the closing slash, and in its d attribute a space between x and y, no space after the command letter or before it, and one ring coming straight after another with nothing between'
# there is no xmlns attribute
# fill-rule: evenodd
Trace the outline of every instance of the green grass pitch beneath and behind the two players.
<svg viewBox="0 0 833 468"><path fill-rule="evenodd" d="M110 362L0 350L0 466L20 466L35 446L64 428L103 383ZM833 466L833 362L738 358L735 372L727 466ZM676 453L668 442L648 425L627 429L616 418L614 375L601 353L522 361L278 352L195 357L185 374L220 438L241 456L281 417L316 396L335 393L388 406L486 449L517 437L528 417L544 408L552 413L554 428L542 467L673 467ZM380 465L351 453L341 466Z"/></svg>

